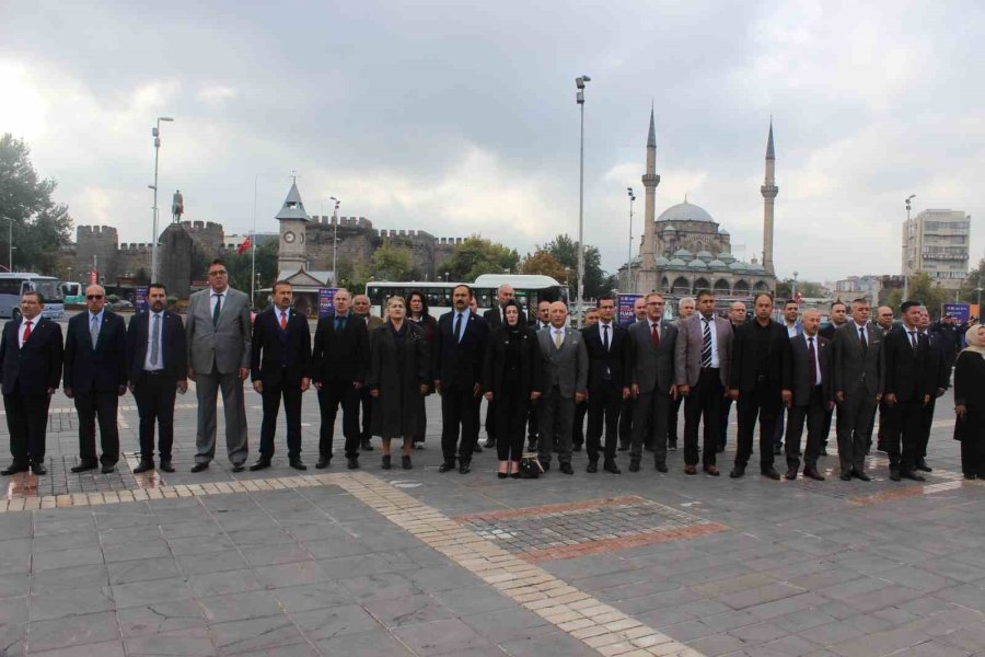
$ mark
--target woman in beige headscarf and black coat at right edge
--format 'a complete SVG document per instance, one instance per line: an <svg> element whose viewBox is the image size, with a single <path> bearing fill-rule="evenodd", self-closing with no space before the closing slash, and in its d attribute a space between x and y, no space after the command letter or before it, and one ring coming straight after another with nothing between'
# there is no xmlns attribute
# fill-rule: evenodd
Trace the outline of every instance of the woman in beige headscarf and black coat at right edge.
<svg viewBox="0 0 985 657"><path fill-rule="evenodd" d="M964 479L985 479L985 325L969 328L965 339L954 364L954 440Z"/></svg>

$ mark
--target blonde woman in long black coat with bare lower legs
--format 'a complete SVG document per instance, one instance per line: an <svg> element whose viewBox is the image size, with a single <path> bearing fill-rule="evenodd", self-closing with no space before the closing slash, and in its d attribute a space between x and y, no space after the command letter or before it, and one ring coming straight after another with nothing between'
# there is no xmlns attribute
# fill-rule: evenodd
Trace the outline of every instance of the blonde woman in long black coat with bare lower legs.
<svg viewBox="0 0 985 657"><path fill-rule="evenodd" d="M383 470L390 470L390 441L401 438L404 470L410 470L414 436L427 426L424 399L428 392L428 344L424 332L406 320L403 297L386 302L386 323L370 341L370 373L366 384L373 397L373 435L383 439Z"/></svg>

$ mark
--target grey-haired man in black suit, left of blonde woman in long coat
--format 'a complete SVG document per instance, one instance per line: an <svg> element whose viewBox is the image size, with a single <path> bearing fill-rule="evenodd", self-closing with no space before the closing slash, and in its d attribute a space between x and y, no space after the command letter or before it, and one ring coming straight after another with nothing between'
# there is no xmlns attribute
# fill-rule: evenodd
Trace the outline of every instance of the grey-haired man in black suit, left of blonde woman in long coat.
<svg viewBox="0 0 985 657"><path fill-rule="evenodd" d="M349 312L347 290L340 289L335 292L332 304L335 312L318 320L314 351L311 356L311 378L318 390L318 405L322 410L318 462L315 468L320 470L327 468L332 461L335 416L341 404L346 464L349 470L355 470L359 468L361 441L359 396L366 383L370 338L367 322Z"/></svg>

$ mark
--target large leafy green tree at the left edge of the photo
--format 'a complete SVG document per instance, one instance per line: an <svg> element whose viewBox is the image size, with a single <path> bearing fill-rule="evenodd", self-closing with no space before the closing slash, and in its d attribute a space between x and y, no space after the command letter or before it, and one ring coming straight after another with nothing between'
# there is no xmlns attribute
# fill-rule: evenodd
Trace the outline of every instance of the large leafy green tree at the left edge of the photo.
<svg viewBox="0 0 985 657"><path fill-rule="evenodd" d="M0 219L13 222L14 262L19 269L56 273L59 249L71 240L68 207L51 198L56 186L54 180L38 176L26 143L10 132L0 137ZM10 265L4 257L9 253L9 230L0 230L0 262L4 268Z"/></svg>

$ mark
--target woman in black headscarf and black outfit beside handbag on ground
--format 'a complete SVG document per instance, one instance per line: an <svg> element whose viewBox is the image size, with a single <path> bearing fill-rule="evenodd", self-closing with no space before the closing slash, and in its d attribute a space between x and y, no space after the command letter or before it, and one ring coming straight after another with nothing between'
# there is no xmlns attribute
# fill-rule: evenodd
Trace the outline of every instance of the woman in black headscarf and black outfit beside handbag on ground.
<svg viewBox="0 0 985 657"><path fill-rule="evenodd" d="M520 476L526 416L536 390L541 362L537 337L528 327L520 304L513 300L502 309L503 323L489 335L483 381L486 400L496 400L496 450L499 479Z"/></svg>

